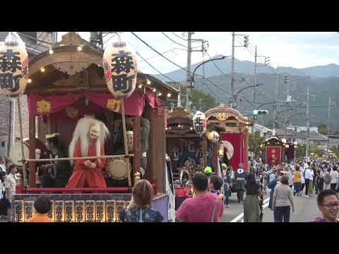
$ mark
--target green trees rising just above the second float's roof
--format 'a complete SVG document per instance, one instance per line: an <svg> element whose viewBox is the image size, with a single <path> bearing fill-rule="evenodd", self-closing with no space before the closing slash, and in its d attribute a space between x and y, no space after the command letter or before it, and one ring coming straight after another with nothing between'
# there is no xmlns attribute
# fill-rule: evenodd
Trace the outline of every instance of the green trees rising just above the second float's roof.
<svg viewBox="0 0 339 254"><path fill-rule="evenodd" d="M182 85L180 87L182 95L186 95L186 87ZM184 99L185 98L185 99ZM182 96L182 100L185 100L186 97ZM192 104L191 111L202 111L205 112L208 109L216 107L215 98L212 95L201 92L200 90L192 90Z"/></svg>

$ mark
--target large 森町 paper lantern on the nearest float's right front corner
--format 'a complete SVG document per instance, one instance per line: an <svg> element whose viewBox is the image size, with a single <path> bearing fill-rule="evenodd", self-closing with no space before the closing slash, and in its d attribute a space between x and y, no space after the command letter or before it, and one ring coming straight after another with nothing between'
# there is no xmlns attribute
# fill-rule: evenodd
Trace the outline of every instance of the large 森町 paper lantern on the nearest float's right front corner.
<svg viewBox="0 0 339 254"><path fill-rule="evenodd" d="M136 53L126 42L114 42L105 49L105 79L109 92L114 97L124 99L136 90Z"/></svg>

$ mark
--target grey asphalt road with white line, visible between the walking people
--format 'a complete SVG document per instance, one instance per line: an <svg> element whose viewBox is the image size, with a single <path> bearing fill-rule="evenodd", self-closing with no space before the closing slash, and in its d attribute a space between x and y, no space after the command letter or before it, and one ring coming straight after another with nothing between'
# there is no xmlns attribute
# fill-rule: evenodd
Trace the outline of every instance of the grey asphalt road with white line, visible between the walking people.
<svg viewBox="0 0 339 254"><path fill-rule="evenodd" d="M264 197L263 222L274 222L273 211L268 209L268 195ZM316 195L305 198L304 196L293 197L295 201L295 212L291 214L290 222L309 222L315 217L321 216L321 213L316 206ZM230 207L224 207L222 222L243 222L242 213L244 212L242 203L237 202L237 196L230 198Z"/></svg>

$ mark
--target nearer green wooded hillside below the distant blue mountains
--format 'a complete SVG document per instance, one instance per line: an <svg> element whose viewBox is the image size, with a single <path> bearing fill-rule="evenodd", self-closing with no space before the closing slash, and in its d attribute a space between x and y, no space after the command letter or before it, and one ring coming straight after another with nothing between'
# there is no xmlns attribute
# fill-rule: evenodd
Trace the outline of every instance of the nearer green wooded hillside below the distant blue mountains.
<svg viewBox="0 0 339 254"><path fill-rule="evenodd" d="M242 87L246 87L246 83L241 82L242 78L249 80L249 84L253 84L253 75L246 74L236 74L235 75L235 90L239 91ZM210 77L210 80L224 90L230 91L230 75L218 75ZM205 83L205 84L204 84ZM275 75L259 73L257 83L263 83L263 85L259 86L258 95L256 96L256 106L265 103L265 102L273 102L275 100ZM310 102L310 123L311 126L317 126L319 123L326 123L328 119L328 96L331 95L332 102L338 102L339 105L339 77L332 78L310 78L309 76L297 76L290 75L289 76L290 83L290 95L292 95L292 99L294 102L291 102L291 106L299 107L299 104L302 102L306 102L307 95L306 90L309 87L310 95L315 95L313 100ZM197 79L196 80L196 89L202 90L203 92L209 93L215 97L216 102L228 102L230 94L227 92L220 90L215 85L209 83L207 80ZM212 91L212 92L211 92ZM283 82L283 78L280 78L278 85L278 100L283 100L286 96L286 86ZM242 96L245 96L249 99L250 102L253 102L253 89L249 88L239 93L237 100L242 99L242 102L238 103L238 108L240 111L244 113L249 113L246 111L253 110L253 106L246 102ZM282 111L285 108L283 105L278 105L277 111ZM273 117L273 107L268 104L263 106L261 109L268 109L269 114L267 116L261 117L258 119L258 123L264 123L270 126ZM306 108L295 108L293 111L289 112L287 115L292 115L295 113L304 112L306 113ZM278 121L280 124L283 124L283 116L284 114L280 114ZM305 126L306 125L306 116L299 115L292 117L290 119L290 123ZM339 111L338 107L331 108L331 128L339 129Z"/></svg>

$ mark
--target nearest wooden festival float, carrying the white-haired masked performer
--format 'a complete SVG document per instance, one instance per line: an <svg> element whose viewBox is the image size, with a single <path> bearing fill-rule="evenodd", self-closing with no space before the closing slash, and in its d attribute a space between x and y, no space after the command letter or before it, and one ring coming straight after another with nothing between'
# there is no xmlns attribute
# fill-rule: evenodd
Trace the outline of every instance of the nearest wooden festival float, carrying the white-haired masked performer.
<svg viewBox="0 0 339 254"><path fill-rule="evenodd" d="M20 57L25 63L25 56ZM20 142L20 128L20 151L18 145L13 151L23 167L22 193L13 196L13 221L27 222L34 215L34 200L47 195L54 222L119 222L118 211L129 205L138 179L152 183L153 207L168 221L165 103L179 92L137 71L133 50L120 39L104 53L68 32L28 63L27 87L19 86L28 98L29 137ZM22 67L25 77L28 66ZM11 91L6 94L20 106L18 93ZM50 138L69 147L68 156L44 158L44 143ZM40 165L54 169L58 162L71 169L66 185L38 188Z"/></svg>

